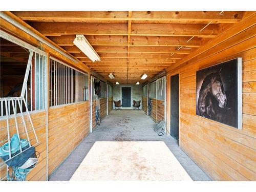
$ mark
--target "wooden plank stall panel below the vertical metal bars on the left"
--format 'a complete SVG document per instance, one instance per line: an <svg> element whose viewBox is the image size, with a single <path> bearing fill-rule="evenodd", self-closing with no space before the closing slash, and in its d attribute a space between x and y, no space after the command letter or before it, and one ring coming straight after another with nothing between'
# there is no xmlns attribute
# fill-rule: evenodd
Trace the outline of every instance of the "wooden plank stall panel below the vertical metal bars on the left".
<svg viewBox="0 0 256 192"><path fill-rule="evenodd" d="M89 101L49 109L49 175L89 133Z"/></svg>

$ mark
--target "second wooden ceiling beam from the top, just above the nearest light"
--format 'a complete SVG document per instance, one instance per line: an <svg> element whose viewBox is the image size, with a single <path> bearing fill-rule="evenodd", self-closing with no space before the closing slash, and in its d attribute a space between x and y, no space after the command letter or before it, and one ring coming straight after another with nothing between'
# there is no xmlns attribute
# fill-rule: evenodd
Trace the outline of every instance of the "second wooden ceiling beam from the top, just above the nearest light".
<svg viewBox="0 0 256 192"><path fill-rule="evenodd" d="M45 36L128 35L128 24L33 22L30 25ZM200 31L203 27L205 25L202 24L133 24L131 36L217 36L218 25L209 25Z"/></svg>

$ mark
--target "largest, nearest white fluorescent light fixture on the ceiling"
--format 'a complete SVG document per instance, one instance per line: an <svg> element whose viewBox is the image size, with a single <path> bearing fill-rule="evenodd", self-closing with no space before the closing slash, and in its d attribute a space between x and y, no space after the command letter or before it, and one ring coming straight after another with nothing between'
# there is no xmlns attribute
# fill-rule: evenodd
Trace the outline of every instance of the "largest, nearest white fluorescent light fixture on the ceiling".
<svg viewBox="0 0 256 192"><path fill-rule="evenodd" d="M74 44L78 49L80 49L86 56L88 56L93 62L100 61L99 55L90 45L89 41L83 35L76 35L74 39Z"/></svg>

